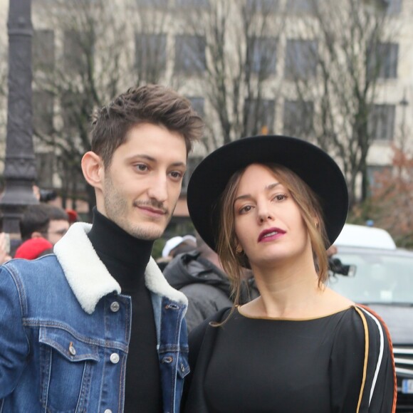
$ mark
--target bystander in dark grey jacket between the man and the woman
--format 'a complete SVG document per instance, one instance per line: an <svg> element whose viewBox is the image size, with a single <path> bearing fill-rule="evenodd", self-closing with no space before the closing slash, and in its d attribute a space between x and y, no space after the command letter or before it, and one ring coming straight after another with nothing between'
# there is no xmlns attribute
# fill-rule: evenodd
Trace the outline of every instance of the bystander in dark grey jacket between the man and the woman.
<svg viewBox="0 0 413 413"><path fill-rule="evenodd" d="M188 298L185 315L188 332L221 308L233 304L231 283L219 261L218 254L197 234L197 249L180 253L164 268L164 276L172 287ZM251 271L245 271L240 302L258 296Z"/></svg>

